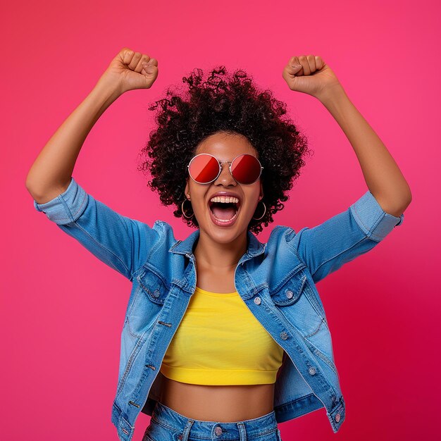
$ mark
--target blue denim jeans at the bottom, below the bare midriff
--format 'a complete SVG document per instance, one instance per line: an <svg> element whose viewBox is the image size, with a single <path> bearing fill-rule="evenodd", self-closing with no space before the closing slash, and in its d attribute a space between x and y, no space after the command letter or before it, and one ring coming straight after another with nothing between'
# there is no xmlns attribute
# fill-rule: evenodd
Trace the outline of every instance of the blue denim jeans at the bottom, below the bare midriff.
<svg viewBox="0 0 441 441"><path fill-rule="evenodd" d="M275 412L235 423L187 418L157 402L142 441L282 441Z"/></svg>

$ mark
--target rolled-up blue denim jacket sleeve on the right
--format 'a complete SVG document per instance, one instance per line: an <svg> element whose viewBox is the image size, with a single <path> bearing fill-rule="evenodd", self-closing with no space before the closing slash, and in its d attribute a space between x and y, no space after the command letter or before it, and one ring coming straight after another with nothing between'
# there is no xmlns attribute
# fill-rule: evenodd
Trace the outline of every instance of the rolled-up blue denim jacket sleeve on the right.
<svg viewBox="0 0 441 441"><path fill-rule="evenodd" d="M367 191L349 209L328 221L304 227L297 234L292 230L290 243L308 266L314 282L318 282L373 249L403 220L404 213L399 217L386 213Z"/></svg>

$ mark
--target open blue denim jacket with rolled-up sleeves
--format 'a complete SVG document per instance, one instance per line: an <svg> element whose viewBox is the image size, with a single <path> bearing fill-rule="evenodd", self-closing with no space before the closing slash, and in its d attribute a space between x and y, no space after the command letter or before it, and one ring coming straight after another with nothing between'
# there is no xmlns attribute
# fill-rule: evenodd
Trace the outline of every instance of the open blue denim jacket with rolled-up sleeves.
<svg viewBox="0 0 441 441"><path fill-rule="evenodd" d="M139 412L151 416L161 393L163 356L196 287L195 230L176 240L172 227L121 216L71 178L58 197L37 204L61 230L132 282L121 334L120 367L111 421L130 441ZM328 321L316 282L373 249L404 214L383 211L371 192L349 209L298 232L278 225L268 242L247 232L235 288L249 311L284 349L275 382L278 423L325 408L333 432L345 404ZM201 336L201 338L204 338Z"/></svg>

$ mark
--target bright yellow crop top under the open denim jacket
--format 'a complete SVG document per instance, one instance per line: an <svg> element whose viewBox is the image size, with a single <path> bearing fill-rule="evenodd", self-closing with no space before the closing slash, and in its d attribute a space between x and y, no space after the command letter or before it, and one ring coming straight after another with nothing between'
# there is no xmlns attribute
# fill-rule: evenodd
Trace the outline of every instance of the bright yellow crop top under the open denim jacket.
<svg viewBox="0 0 441 441"><path fill-rule="evenodd" d="M275 383L283 349L238 292L196 287L164 356L161 373L197 385Z"/></svg>

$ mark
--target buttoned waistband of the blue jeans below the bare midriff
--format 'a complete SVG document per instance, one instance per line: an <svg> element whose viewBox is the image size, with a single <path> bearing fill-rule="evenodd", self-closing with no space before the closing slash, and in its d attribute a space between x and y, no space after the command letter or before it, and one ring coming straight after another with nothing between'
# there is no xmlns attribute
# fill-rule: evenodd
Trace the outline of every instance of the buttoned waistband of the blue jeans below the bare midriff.
<svg viewBox="0 0 441 441"><path fill-rule="evenodd" d="M257 437L264 435L266 432L273 432L278 427L275 411L250 420L223 423L187 418L161 402L156 402L151 418L177 431L188 428L192 437L201 437L202 439L209 440L244 439L244 433L247 434L247 437Z"/></svg>

